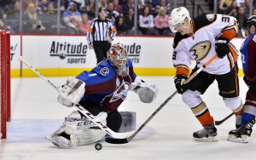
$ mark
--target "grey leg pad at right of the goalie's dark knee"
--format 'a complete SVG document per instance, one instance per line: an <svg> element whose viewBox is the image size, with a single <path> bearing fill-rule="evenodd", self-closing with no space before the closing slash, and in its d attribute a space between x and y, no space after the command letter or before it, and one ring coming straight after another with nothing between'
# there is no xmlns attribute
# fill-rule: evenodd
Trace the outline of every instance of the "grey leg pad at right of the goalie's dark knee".
<svg viewBox="0 0 256 160"><path fill-rule="evenodd" d="M123 121L119 129L119 133L130 132L137 129L136 112L134 111L119 111Z"/></svg>

